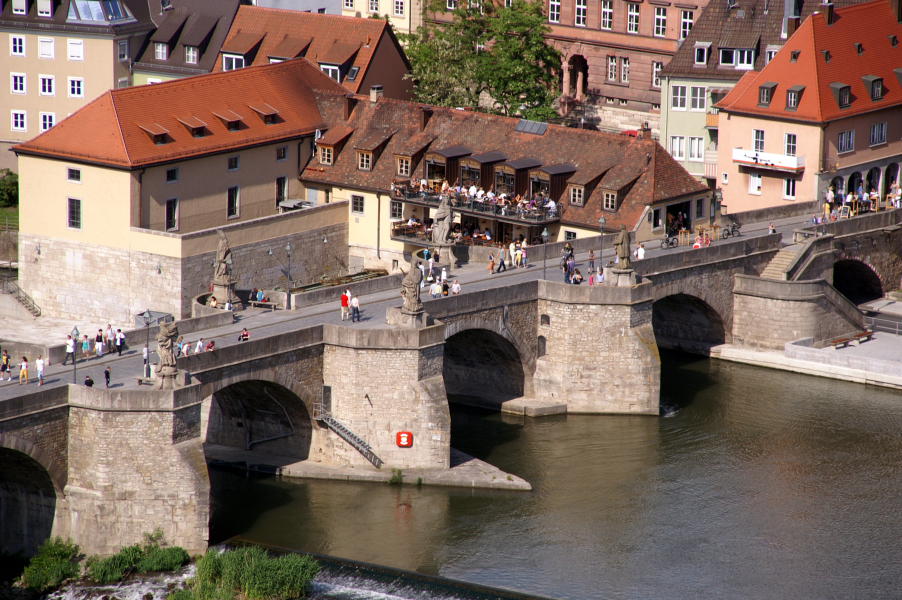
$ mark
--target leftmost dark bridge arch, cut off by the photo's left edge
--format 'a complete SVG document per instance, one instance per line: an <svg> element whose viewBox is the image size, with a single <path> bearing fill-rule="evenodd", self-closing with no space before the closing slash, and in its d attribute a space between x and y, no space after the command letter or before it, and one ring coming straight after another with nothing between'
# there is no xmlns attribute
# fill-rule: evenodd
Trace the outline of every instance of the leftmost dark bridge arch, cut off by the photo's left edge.
<svg viewBox="0 0 902 600"><path fill-rule="evenodd" d="M53 465L31 442L0 434L0 553L32 556L50 537L64 484Z"/></svg>

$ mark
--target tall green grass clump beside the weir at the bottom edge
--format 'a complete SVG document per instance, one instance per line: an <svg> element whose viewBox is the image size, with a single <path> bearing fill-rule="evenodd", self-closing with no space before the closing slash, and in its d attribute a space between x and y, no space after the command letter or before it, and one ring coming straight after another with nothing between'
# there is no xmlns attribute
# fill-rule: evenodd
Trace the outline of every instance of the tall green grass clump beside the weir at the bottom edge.
<svg viewBox="0 0 902 600"><path fill-rule="evenodd" d="M306 598L319 563L302 554L272 557L262 548L219 553L209 550L197 561L191 585L167 600L292 600Z"/></svg>

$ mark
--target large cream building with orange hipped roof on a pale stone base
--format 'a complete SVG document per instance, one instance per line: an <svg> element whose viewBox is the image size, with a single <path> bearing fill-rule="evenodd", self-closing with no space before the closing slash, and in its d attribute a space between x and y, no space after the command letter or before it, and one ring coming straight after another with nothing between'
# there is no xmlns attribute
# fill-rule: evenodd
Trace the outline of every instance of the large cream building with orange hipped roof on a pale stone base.
<svg viewBox="0 0 902 600"><path fill-rule="evenodd" d="M104 93L14 147L20 285L49 315L191 316L220 229L239 288L335 269L320 240L346 244L347 208L309 202L297 174L325 126L318 95L346 93L304 59Z"/></svg>

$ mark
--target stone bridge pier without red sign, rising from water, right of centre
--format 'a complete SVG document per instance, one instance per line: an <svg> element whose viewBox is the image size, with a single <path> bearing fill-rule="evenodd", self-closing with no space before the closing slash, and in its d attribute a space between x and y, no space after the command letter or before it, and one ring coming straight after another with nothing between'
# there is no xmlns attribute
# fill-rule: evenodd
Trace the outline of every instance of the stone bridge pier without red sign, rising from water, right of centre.
<svg viewBox="0 0 902 600"><path fill-rule="evenodd" d="M540 281L537 400L570 413L657 415L661 358L652 284L575 286Z"/></svg>

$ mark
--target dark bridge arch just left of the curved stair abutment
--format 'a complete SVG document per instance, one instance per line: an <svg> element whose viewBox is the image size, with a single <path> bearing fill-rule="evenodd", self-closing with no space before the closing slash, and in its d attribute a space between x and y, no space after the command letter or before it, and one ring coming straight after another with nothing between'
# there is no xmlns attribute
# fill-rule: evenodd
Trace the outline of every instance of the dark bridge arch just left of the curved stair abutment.
<svg viewBox="0 0 902 600"><path fill-rule="evenodd" d="M707 351L727 341L724 319L697 296L671 294L652 305L655 339L663 348Z"/></svg>

